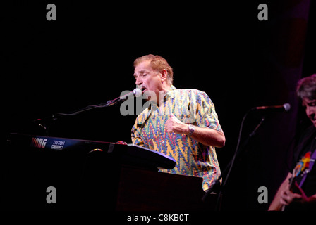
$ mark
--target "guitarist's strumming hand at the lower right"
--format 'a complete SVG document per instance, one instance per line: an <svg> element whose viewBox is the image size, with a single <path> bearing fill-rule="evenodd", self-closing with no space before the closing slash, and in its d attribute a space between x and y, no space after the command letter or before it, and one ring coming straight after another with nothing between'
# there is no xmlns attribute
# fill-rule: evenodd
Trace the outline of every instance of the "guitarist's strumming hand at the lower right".
<svg viewBox="0 0 316 225"><path fill-rule="evenodd" d="M290 205L292 202L306 203L308 202L308 197L305 195L304 191L295 183L295 190L297 193L293 193L290 186L286 186L284 191L281 191L280 203L282 205Z"/></svg>

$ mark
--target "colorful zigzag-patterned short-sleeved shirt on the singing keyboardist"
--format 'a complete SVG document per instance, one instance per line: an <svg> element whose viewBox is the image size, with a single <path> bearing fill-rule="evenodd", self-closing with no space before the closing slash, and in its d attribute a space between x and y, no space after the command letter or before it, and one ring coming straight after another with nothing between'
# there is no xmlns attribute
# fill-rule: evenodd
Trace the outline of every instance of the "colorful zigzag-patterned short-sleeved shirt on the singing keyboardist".
<svg viewBox="0 0 316 225"><path fill-rule="evenodd" d="M222 132L214 104L205 92L171 86L162 105L150 104L138 115L132 129L132 141L176 160L174 169L159 169L160 172L200 176L206 191L221 174L215 148L204 146L186 134L168 133L164 125L171 113L186 124Z"/></svg>

